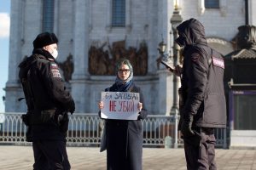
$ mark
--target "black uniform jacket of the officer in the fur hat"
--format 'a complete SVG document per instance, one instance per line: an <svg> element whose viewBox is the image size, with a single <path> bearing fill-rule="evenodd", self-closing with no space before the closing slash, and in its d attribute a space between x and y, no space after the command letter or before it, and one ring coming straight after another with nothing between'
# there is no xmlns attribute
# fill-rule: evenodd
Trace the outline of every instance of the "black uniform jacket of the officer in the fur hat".
<svg viewBox="0 0 256 170"><path fill-rule="evenodd" d="M32 140L65 139L54 116L57 112L74 110L75 105L55 59L42 48L34 49L32 56L20 63L19 74L27 77L31 92ZM49 119L46 115L53 117Z"/></svg>

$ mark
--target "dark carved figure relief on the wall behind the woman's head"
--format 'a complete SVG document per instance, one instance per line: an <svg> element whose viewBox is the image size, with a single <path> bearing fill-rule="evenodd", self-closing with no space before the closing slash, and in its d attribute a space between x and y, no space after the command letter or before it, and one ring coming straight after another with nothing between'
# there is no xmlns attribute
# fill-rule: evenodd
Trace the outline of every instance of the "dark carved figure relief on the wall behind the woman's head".
<svg viewBox="0 0 256 170"><path fill-rule="evenodd" d="M125 40L113 42L103 42L99 47L92 44L89 49L89 72L91 75L115 75L115 63L121 59L129 59L133 66L134 75L143 76L148 71L148 47L145 42L141 42L140 47L125 48Z"/></svg>

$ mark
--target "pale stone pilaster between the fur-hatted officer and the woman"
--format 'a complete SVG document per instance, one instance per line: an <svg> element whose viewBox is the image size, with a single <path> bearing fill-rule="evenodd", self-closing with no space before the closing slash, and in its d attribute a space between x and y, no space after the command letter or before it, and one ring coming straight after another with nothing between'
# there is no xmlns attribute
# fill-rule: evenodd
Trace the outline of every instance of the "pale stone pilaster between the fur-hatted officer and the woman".
<svg viewBox="0 0 256 170"><path fill-rule="evenodd" d="M74 72L72 77L72 94L75 96L76 112L86 112L90 105L86 99L90 98L88 79L88 50L89 50L89 25L90 1L75 1L74 16ZM85 105L86 104L86 105Z"/></svg>

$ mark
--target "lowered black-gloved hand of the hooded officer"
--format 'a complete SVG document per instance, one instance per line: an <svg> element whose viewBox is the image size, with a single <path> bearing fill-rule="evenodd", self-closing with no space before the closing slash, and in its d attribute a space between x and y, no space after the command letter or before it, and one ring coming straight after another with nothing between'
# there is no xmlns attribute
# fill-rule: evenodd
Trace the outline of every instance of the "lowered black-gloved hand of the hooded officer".
<svg viewBox="0 0 256 170"><path fill-rule="evenodd" d="M183 123L181 127L181 132L183 133L183 137L189 137L195 135L194 131L192 130L192 123L193 123L193 115L184 116Z"/></svg>

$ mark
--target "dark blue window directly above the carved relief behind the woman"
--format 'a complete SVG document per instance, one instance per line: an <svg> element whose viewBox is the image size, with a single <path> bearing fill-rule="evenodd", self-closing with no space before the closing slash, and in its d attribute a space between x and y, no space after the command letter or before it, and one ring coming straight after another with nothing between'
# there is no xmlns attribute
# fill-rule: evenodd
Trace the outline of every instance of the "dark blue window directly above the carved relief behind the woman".
<svg viewBox="0 0 256 170"><path fill-rule="evenodd" d="M125 0L113 0L112 26L125 27Z"/></svg>

